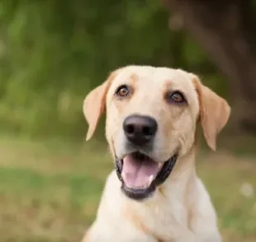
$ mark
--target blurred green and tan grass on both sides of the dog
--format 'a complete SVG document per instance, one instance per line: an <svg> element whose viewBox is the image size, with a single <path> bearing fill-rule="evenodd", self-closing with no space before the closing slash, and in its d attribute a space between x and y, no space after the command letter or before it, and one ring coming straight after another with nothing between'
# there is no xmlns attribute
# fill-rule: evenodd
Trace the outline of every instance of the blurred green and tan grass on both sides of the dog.
<svg viewBox="0 0 256 242"><path fill-rule="evenodd" d="M80 241L112 169L107 148L88 142L0 138L0 241ZM227 242L256 240L256 156L201 152L197 170ZM250 184L254 194L241 192Z"/></svg>

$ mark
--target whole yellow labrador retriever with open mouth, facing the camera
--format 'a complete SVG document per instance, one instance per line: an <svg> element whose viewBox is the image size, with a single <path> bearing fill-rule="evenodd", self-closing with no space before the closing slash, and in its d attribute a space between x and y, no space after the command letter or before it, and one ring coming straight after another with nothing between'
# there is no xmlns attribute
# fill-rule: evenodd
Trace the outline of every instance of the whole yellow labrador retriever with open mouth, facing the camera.
<svg viewBox="0 0 256 242"><path fill-rule="evenodd" d="M181 69L128 66L83 104L87 140L107 109L116 166L83 242L220 242L216 212L195 170L197 123L216 150L230 106Z"/></svg>

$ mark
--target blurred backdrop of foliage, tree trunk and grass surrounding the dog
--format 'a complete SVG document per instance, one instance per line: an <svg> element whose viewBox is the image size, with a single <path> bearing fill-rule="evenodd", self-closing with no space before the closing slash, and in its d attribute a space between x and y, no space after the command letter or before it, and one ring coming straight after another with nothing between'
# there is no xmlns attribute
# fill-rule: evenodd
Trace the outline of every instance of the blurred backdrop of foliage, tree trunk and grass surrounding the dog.
<svg viewBox="0 0 256 242"><path fill-rule="evenodd" d="M181 67L232 106L197 171L225 241L256 241L256 1L0 0L0 240L81 240L113 169L85 95L128 64Z"/></svg>

